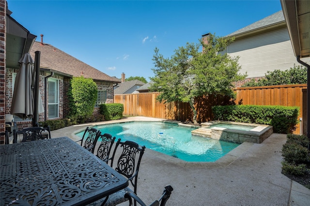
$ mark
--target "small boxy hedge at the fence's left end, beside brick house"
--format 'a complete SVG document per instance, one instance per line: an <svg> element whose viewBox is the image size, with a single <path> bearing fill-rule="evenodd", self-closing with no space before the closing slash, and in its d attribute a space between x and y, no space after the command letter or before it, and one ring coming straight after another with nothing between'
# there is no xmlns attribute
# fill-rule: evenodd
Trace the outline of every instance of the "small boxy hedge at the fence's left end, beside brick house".
<svg viewBox="0 0 310 206"><path fill-rule="evenodd" d="M124 105L121 103L100 104L100 114L105 120L116 120L123 118Z"/></svg>

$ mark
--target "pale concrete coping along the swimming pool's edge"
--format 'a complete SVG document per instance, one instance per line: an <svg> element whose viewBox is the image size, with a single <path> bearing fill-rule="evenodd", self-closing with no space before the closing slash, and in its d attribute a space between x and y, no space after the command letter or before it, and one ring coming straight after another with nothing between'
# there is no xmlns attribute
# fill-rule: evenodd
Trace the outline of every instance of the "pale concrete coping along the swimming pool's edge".
<svg viewBox="0 0 310 206"><path fill-rule="evenodd" d="M72 134L73 136L77 137L77 140L79 137L76 135L78 132L82 132L85 130L85 126L88 127L95 127L95 126L100 126L100 125L108 125L108 124L115 124L115 123L124 123L124 122L133 122L133 121L163 121L163 122L169 122L169 123L174 123L178 124L180 126L186 126L186 127L196 127L200 128L200 126L197 125L188 125L188 124L182 124L181 121L177 120L168 120L168 119L131 119L131 118L125 118L125 119L119 119L119 120L112 120L112 121L105 121L105 122L93 122L91 124L83 124L79 126L84 126L83 128L74 131ZM187 162L184 160L181 160L176 157L172 157L170 155L163 154L161 152L146 148L148 150L148 153L150 154L150 157L156 157L160 158L162 160L165 160L167 162L177 164L179 166L183 167L199 167L199 168L207 168L211 165L217 165L217 166L223 166L226 167L233 163L236 159L238 159L242 154L244 154L252 145L255 143L250 143L250 142L244 142L241 143L238 147L234 148L230 152L228 152L226 155L221 157L215 162Z"/></svg>

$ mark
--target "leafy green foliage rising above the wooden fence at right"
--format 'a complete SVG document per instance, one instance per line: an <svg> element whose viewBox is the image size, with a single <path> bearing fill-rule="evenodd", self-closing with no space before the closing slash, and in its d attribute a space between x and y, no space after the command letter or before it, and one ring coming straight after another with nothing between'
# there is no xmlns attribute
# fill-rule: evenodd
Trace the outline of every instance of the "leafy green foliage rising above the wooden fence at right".
<svg viewBox="0 0 310 206"><path fill-rule="evenodd" d="M296 66L289 70L273 72L267 71L263 79L257 82L252 79L250 82L245 83L242 87L260 87L270 85L294 85L294 84L307 84L307 67Z"/></svg>

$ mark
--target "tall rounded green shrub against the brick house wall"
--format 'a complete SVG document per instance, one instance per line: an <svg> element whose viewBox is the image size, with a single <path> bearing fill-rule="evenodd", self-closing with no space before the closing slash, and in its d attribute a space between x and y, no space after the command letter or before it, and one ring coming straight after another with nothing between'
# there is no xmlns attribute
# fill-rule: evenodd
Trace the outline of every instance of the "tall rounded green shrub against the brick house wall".
<svg viewBox="0 0 310 206"><path fill-rule="evenodd" d="M97 100L97 85L91 78L73 77L69 89L70 115L85 119L93 114Z"/></svg>

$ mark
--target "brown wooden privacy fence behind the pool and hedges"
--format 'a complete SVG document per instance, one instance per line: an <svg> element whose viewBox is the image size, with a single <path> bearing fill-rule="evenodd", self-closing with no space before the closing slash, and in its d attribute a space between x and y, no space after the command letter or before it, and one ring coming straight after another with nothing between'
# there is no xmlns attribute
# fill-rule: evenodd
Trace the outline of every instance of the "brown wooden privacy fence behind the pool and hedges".
<svg viewBox="0 0 310 206"><path fill-rule="evenodd" d="M299 117L302 117L303 108L306 105L305 101L303 105L302 89L305 88L307 88L307 84L235 88L236 100L234 102L221 95L203 96L196 99L197 120L198 122L213 120L211 107L228 104L298 106L300 107ZM158 95L158 92L114 95L114 103L124 104L124 116L143 116L178 121L192 120L193 113L188 103L159 103L156 100ZM297 125L295 133L299 133L299 130L300 127Z"/></svg>

